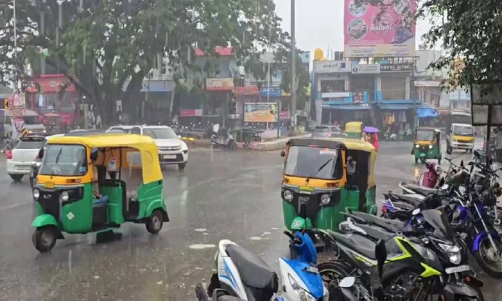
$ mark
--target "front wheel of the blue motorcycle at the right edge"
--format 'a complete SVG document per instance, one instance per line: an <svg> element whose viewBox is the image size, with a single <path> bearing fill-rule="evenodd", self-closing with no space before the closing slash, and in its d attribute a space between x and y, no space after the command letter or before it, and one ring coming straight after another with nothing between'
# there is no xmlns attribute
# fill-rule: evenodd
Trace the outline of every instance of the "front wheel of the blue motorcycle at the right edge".
<svg viewBox="0 0 502 301"><path fill-rule="evenodd" d="M481 269L494 278L502 278L502 242L494 241L497 250L493 250L490 240L485 237L479 244L479 249L474 253Z"/></svg>

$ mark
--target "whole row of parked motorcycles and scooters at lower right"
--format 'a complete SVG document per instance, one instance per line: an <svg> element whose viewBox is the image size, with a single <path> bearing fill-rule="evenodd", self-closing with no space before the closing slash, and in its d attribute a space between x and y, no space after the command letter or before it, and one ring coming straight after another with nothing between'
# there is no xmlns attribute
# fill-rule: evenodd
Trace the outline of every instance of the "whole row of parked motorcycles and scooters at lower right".
<svg viewBox="0 0 502 301"><path fill-rule="evenodd" d="M433 187L401 182L402 193L385 193L380 216L346 209L337 232L285 231L291 255L279 259L281 286L262 259L220 241L216 272L208 286L196 286L198 299L483 300L473 267L502 278L502 211L496 206L502 188L491 164L447 161L446 172L427 164L426 173L437 178ZM417 182L432 186L432 176ZM334 257L318 263L312 238L324 241Z"/></svg>

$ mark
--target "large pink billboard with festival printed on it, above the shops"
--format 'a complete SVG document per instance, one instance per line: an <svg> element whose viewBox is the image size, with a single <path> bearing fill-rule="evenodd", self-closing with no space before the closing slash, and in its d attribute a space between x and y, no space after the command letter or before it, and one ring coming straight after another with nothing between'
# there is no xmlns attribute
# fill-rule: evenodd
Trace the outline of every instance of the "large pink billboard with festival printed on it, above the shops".
<svg viewBox="0 0 502 301"><path fill-rule="evenodd" d="M383 13L361 1L344 0L345 57L415 56L415 0L383 0Z"/></svg>

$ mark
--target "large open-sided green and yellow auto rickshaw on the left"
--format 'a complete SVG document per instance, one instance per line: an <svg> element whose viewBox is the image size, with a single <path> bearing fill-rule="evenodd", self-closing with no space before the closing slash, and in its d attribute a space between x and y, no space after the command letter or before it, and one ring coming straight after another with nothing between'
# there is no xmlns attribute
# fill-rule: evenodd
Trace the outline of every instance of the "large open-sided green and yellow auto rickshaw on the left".
<svg viewBox="0 0 502 301"><path fill-rule="evenodd" d="M157 234L169 222L155 141L148 136L104 133L62 136L40 150L33 188L38 216L33 244L50 251L63 233L113 233L124 222Z"/></svg>

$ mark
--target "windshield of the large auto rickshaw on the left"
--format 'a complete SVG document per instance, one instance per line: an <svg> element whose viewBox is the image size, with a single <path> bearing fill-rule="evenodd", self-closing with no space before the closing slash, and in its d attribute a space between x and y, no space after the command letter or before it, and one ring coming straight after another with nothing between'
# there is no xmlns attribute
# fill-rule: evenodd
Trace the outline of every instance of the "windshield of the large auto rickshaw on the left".
<svg viewBox="0 0 502 301"><path fill-rule="evenodd" d="M87 173L85 147L76 144L47 144L40 175L80 176Z"/></svg>

